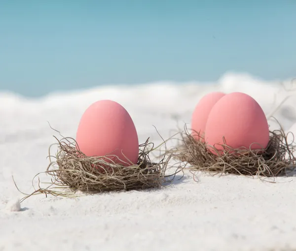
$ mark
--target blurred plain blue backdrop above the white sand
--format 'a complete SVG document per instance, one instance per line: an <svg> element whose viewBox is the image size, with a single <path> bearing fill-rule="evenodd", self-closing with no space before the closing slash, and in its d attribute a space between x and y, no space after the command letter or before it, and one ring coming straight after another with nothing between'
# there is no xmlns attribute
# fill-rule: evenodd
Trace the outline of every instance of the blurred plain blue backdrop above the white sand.
<svg viewBox="0 0 296 251"><path fill-rule="evenodd" d="M0 90L296 75L295 0L1 0Z"/></svg>

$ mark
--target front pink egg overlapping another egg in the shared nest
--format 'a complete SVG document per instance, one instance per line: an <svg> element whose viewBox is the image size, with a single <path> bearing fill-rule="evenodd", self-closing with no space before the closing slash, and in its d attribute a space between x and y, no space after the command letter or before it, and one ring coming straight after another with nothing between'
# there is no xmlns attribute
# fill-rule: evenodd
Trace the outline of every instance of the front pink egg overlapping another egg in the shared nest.
<svg viewBox="0 0 296 251"><path fill-rule="evenodd" d="M209 146L223 150L226 145L238 148L262 149L269 141L269 128L257 101L244 93L223 96L212 108L205 130ZM210 147L209 147L210 148Z"/></svg>

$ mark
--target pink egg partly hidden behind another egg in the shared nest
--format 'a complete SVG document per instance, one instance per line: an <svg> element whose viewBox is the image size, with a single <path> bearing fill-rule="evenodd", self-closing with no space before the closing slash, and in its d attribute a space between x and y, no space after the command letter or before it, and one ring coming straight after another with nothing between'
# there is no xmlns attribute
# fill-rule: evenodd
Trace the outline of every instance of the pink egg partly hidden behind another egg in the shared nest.
<svg viewBox="0 0 296 251"><path fill-rule="evenodd" d="M210 111L224 93L213 92L203 96L197 103L191 119L192 136L195 140L204 141L204 132ZM199 137L200 135L200 137Z"/></svg>

